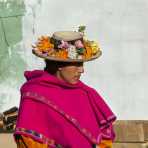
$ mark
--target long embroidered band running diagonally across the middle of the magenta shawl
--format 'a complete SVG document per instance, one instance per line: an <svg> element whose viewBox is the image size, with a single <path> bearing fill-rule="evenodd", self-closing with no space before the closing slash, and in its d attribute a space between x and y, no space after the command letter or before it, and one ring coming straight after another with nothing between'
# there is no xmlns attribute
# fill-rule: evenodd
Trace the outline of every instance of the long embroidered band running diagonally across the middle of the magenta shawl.
<svg viewBox="0 0 148 148"><path fill-rule="evenodd" d="M91 132L89 132L86 128L82 128L80 126L79 122L75 118L69 116L62 109L60 109L57 105L55 105L52 101L47 100L44 96L40 96L40 95L38 95L37 93L34 93L34 92L25 92L25 93L23 93L22 97L31 97L29 99L35 99L35 100L38 100L38 101L41 101L41 102L47 104L49 107L53 108L55 111L57 111L62 116L64 116L68 121L70 121L77 129L79 129L79 131L88 140L90 140L94 144L99 144L98 141L96 140L96 138L91 134Z"/></svg>

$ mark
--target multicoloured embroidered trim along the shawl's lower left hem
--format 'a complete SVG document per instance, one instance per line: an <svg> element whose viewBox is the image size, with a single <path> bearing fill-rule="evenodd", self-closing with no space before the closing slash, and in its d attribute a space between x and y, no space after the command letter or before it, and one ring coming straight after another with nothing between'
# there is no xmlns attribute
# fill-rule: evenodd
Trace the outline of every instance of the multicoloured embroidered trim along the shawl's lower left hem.
<svg viewBox="0 0 148 148"><path fill-rule="evenodd" d="M43 143L45 143L49 146L57 147L55 140L49 139L46 136L44 136L43 134L37 133L36 131L18 127L18 128L15 129L15 134L17 134L17 133L30 135L30 136L38 139L39 141L42 141Z"/></svg>

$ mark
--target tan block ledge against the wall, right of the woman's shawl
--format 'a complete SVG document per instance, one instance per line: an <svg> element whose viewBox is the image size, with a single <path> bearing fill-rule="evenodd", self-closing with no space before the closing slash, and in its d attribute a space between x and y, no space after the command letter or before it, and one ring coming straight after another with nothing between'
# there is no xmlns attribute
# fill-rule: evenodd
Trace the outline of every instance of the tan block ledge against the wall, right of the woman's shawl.
<svg viewBox="0 0 148 148"><path fill-rule="evenodd" d="M115 142L148 142L148 120L118 120Z"/></svg>

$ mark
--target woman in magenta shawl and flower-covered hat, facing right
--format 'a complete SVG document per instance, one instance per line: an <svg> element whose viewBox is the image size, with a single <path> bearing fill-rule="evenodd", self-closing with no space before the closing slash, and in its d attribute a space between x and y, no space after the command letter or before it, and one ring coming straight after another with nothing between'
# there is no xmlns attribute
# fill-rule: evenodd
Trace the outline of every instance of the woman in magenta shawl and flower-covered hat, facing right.
<svg viewBox="0 0 148 148"><path fill-rule="evenodd" d="M101 51L81 32L41 37L33 53L44 70L26 71L14 138L18 148L111 148L116 117L98 92L81 82L83 63Z"/></svg>

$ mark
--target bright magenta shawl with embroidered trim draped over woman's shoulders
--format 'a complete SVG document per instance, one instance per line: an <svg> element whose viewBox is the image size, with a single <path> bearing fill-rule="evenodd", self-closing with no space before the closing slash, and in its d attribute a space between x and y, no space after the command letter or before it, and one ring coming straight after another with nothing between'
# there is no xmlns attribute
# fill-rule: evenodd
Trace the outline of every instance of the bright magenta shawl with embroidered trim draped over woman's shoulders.
<svg viewBox="0 0 148 148"><path fill-rule="evenodd" d="M15 134L53 139L64 148L91 148L114 140L116 117L102 97L79 81L71 85L42 70L26 71ZM32 130L36 136L19 128Z"/></svg>

